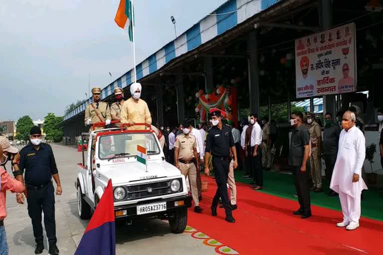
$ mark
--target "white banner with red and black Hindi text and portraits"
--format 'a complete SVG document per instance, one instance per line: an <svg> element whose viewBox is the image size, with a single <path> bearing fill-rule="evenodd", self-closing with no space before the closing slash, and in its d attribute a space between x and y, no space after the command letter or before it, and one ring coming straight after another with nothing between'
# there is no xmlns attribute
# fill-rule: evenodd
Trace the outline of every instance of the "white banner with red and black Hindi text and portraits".
<svg viewBox="0 0 383 255"><path fill-rule="evenodd" d="M355 23L295 40L296 97L355 92Z"/></svg>

